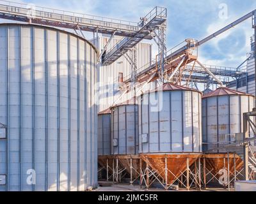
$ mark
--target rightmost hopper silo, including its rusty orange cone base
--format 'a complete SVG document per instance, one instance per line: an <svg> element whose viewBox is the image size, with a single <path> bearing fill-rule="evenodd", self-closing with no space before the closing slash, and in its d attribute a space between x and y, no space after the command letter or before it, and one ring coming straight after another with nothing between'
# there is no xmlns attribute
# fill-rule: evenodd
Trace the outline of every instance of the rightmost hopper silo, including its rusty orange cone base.
<svg viewBox="0 0 256 204"><path fill-rule="evenodd" d="M203 143L204 152L207 153L204 155L204 172L210 177L209 180L220 182L225 170L227 173L229 171L229 177L240 176L238 172L243 168L243 160L239 152L243 152L243 147L227 150L226 145L243 139L236 138L237 133L243 132L243 113L251 112L253 107L252 95L226 87L203 96ZM252 129L250 133L253 133Z"/></svg>

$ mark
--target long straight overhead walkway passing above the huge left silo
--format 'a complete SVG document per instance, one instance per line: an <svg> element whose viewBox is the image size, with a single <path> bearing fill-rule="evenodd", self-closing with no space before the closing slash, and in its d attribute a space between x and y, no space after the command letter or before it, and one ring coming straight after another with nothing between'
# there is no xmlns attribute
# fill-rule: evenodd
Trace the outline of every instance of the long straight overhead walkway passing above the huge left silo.
<svg viewBox="0 0 256 204"><path fill-rule="evenodd" d="M80 29L81 31L102 34L113 34L115 32L116 36L125 37L133 37L141 29L137 22L85 15L3 0L0 0L0 18L68 29ZM146 36L145 38L152 39L151 36Z"/></svg>

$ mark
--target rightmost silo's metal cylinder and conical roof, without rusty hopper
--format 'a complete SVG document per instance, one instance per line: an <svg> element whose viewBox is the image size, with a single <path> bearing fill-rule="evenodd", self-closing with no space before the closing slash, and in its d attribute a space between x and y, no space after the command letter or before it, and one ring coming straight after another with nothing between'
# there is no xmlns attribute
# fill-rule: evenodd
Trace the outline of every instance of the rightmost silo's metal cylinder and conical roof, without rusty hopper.
<svg viewBox="0 0 256 204"><path fill-rule="evenodd" d="M253 107L252 95L225 87L205 94L202 99L204 151L221 152L218 147L236 140L236 133L243 133L243 113L251 112Z"/></svg>

